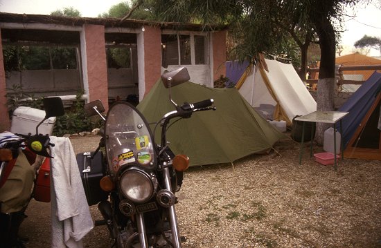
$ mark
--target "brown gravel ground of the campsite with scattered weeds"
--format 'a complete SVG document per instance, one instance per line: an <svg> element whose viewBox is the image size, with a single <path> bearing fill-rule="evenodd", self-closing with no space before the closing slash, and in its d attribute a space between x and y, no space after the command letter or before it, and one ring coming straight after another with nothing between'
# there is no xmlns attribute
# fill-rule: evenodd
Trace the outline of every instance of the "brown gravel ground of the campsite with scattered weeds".
<svg viewBox="0 0 381 248"><path fill-rule="evenodd" d="M99 137L71 141L94 151ZM335 171L305 152L299 165L299 148L285 140L269 155L190 168L177 204L183 247L381 247L381 162L345 159ZM49 247L50 204L32 201L27 214L26 247ZM84 246L109 247L108 237L94 227Z"/></svg>

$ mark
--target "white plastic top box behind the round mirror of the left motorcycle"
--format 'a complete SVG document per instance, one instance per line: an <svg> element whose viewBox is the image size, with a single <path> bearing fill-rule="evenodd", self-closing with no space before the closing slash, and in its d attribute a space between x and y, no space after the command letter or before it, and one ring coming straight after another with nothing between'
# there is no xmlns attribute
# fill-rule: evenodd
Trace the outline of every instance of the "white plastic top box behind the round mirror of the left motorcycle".
<svg viewBox="0 0 381 248"><path fill-rule="evenodd" d="M11 133L20 133L28 135L36 134L36 126L44 120L45 111L37 108L30 108L21 106L15 109L12 113L12 122L10 125ZM45 120L41 125L39 125L38 133L42 135L51 135L53 133L53 127L55 124L56 117L50 117Z"/></svg>

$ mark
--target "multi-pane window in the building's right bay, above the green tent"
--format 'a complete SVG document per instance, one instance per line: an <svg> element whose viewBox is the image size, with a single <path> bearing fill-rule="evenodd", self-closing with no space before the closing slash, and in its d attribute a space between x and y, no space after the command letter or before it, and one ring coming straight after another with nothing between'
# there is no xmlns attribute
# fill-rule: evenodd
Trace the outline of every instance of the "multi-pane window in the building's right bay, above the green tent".
<svg viewBox="0 0 381 248"><path fill-rule="evenodd" d="M207 64L206 36L161 35L161 65Z"/></svg>

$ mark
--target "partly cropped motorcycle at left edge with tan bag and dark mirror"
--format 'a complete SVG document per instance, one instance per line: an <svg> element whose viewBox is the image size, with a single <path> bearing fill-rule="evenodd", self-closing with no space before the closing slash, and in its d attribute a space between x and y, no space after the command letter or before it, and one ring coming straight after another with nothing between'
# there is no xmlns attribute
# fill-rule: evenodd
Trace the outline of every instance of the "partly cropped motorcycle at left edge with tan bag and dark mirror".
<svg viewBox="0 0 381 248"><path fill-rule="evenodd" d="M49 165L51 155L48 149L51 144L48 135L39 134L39 126L49 117L64 114L60 97L43 99L45 108L44 120L36 126L36 134L0 134L0 240L1 247L24 247L24 239L19 238L18 231L26 218L26 208L32 198L40 201L50 201L50 190L37 190L37 180L47 178L42 169L42 160L37 155L46 157L44 163ZM48 167L48 169L50 169ZM40 173L37 174L39 170ZM37 175L37 176L36 176ZM37 193L38 191L38 193ZM39 193L43 195L37 197ZM46 196L48 195L48 196ZM39 195L38 195L39 196Z"/></svg>

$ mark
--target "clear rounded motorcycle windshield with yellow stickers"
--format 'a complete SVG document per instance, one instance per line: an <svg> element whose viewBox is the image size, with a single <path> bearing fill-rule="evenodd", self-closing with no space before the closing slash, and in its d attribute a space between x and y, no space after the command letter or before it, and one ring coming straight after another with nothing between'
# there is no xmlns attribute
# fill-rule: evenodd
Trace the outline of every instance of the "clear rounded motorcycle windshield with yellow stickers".
<svg viewBox="0 0 381 248"><path fill-rule="evenodd" d="M109 172L114 177L125 164L156 165L148 123L134 106L117 102L107 113L105 145Z"/></svg>

